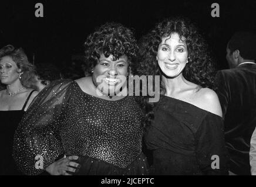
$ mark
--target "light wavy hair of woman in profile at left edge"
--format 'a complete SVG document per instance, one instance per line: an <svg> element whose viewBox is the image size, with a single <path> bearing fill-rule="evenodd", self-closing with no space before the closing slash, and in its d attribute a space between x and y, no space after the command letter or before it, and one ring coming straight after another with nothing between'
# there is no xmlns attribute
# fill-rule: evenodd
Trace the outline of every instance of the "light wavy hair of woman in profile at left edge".
<svg viewBox="0 0 256 187"><path fill-rule="evenodd" d="M7 45L0 49L0 60L3 57L11 57L12 60L16 63L17 67L21 69L21 84L26 88L35 89L35 66L28 61L28 57L22 48L15 48L12 45Z"/></svg>

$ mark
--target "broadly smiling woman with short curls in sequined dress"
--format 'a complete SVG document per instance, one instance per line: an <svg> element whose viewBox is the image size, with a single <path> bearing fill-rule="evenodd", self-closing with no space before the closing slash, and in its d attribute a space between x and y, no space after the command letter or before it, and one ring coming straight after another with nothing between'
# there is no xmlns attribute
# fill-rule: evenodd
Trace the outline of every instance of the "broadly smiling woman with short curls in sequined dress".
<svg viewBox="0 0 256 187"><path fill-rule="evenodd" d="M85 49L92 77L56 81L39 93L16 131L15 160L27 175L41 168L52 175L147 174L142 110L133 96L117 96L136 62L133 32L106 23Z"/></svg>

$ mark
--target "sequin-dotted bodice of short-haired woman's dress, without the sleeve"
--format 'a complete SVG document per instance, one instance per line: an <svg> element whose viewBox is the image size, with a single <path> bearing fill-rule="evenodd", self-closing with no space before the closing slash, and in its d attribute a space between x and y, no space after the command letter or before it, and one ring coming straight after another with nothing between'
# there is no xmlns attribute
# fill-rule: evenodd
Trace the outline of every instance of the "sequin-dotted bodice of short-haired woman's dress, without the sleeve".
<svg viewBox="0 0 256 187"><path fill-rule="evenodd" d="M74 92L60 127L66 153L127 167L142 149L142 116L133 97L107 101L82 92L76 85Z"/></svg>

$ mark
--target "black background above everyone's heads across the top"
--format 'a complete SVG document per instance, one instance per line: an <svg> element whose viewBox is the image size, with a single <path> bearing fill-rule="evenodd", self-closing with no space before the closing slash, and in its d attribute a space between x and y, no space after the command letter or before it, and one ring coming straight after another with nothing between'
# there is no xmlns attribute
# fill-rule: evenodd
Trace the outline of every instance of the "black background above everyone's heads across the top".
<svg viewBox="0 0 256 187"><path fill-rule="evenodd" d="M35 4L43 4L43 18ZM220 18L211 17L211 4L220 5ZM136 30L139 39L159 20L184 15L197 23L207 38L218 69L227 68L225 47L238 30L256 30L256 1L5 1L0 3L0 47L22 47L34 63L68 66L83 53L83 43L95 27L120 22Z"/></svg>

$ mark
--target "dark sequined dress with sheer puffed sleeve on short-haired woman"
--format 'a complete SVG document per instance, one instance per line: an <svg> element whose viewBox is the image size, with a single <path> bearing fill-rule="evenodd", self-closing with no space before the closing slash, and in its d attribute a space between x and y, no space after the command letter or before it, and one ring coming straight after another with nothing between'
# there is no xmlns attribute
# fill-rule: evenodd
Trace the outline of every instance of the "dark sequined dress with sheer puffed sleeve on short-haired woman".
<svg viewBox="0 0 256 187"><path fill-rule="evenodd" d="M15 134L14 157L22 172L40 174L61 155L78 155L76 175L144 175L143 113L134 98L107 101L74 81L53 82L39 93Z"/></svg>

